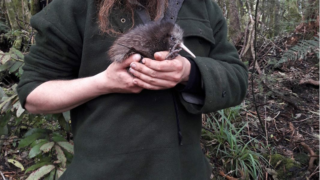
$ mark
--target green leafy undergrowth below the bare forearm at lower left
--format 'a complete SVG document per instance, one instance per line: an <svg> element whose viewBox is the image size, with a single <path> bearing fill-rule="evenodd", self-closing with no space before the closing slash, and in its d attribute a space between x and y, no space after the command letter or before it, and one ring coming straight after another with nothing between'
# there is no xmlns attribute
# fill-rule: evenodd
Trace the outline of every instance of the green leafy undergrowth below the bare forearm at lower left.
<svg viewBox="0 0 320 180"><path fill-rule="evenodd" d="M21 55L16 51L17 56ZM9 61L13 55L5 54L9 57L5 60ZM3 57L0 61L4 61ZM8 69L4 68L4 71ZM8 73L15 74L10 70ZM74 154L73 143L69 142L70 113L30 114L20 105L16 86L0 87L0 137L7 139L5 149L10 152L0 152L0 161L4 160L2 157L6 158L12 169L16 166L17 173L24 173L26 180L58 179L71 163ZM4 141L0 141L0 147L3 144ZM22 154L27 156L24 159L18 158Z"/></svg>

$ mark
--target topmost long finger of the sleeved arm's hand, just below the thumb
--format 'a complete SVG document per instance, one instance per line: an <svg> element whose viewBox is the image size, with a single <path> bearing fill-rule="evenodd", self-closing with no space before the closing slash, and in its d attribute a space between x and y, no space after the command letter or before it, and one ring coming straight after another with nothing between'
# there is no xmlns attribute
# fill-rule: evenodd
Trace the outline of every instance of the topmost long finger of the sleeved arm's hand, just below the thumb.
<svg viewBox="0 0 320 180"><path fill-rule="evenodd" d="M155 61L152 59L143 58L142 63L151 69L161 72L172 72L182 69L183 67L182 62L177 60Z"/></svg>

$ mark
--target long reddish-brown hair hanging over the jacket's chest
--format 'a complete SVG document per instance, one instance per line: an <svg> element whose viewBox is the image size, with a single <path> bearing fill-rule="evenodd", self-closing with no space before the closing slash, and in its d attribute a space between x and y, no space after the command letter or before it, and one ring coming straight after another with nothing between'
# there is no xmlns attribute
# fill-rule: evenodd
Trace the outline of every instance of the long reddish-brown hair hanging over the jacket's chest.
<svg viewBox="0 0 320 180"><path fill-rule="evenodd" d="M113 9L124 8L124 11L128 11L132 15L132 27L134 26L134 8L133 4L130 4L130 0L97 0L98 6L98 23L102 33L108 33L109 35L119 35L121 32L116 31L110 21L109 17ZM168 0L139 0L139 2L145 2L146 10L149 12L151 20L158 20L162 15L161 2L164 2L164 10L168 6ZM132 28L131 27L131 28ZM130 28L130 29L131 29Z"/></svg>

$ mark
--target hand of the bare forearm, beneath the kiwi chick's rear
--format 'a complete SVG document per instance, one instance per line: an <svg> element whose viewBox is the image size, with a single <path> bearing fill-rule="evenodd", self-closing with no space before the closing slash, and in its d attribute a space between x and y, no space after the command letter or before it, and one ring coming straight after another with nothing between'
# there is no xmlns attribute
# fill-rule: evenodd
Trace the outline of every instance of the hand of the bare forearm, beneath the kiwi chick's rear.
<svg viewBox="0 0 320 180"><path fill-rule="evenodd" d="M98 74L101 79L100 89L107 93L140 93L144 88L133 84L133 78L127 68L132 62L140 61L139 54L133 54L122 63L111 63L109 67Z"/></svg>

